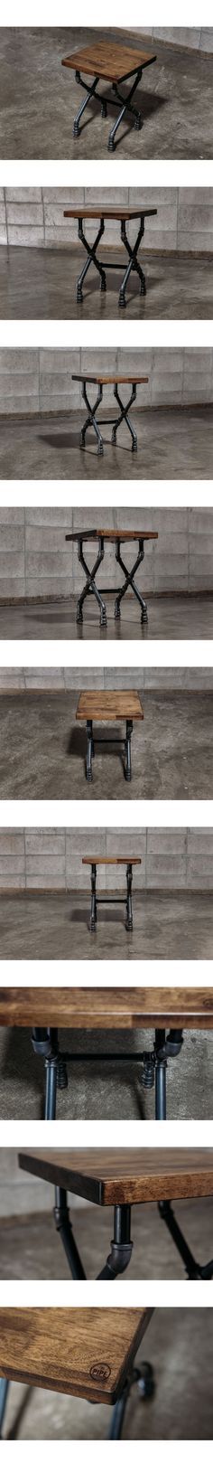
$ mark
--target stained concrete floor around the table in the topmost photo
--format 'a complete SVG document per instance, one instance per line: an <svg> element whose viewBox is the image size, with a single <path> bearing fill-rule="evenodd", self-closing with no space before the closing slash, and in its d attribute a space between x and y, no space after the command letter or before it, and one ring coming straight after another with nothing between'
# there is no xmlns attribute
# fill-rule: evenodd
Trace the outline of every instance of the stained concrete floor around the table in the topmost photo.
<svg viewBox="0 0 213 1463"><path fill-rule="evenodd" d="M74 73L61 59L92 40L125 41L127 32L60 28L7 28L0 31L0 157L1 158L108 158L108 135L115 108L101 117L98 104L86 108L77 140L74 114L82 101ZM133 48L137 47L137 32ZM131 37L128 35L128 45ZM140 37L143 48L143 37ZM213 78L212 57L181 51L144 37L144 50L158 54L147 67L134 104L142 108L143 129L134 132L130 119L118 130L118 158L212 158ZM99 85L108 95L108 86ZM127 85L127 95L130 85ZM80 92L80 94L79 94ZM125 95L125 88L124 88Z"/></svg>

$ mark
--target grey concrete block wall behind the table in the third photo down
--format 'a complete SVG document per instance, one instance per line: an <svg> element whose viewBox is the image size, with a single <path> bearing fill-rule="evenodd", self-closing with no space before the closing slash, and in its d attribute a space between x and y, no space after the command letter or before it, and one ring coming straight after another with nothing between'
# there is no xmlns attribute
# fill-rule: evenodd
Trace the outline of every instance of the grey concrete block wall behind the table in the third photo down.
<svg viewBox="0 0 213 1463"><path fill-rule="evenodd" d="M147 385L137 388L137 410L187 407L213 402L213 348L159 347L143 350L0 350L0 415L77 411L82 388L76 375L139 375ZM130 386L123 386L128 399ZM96 386L89 388L95 401ZM112 386L104 392L104 408L114 408ZM136 413L136 407L134 407Z"/></svg>

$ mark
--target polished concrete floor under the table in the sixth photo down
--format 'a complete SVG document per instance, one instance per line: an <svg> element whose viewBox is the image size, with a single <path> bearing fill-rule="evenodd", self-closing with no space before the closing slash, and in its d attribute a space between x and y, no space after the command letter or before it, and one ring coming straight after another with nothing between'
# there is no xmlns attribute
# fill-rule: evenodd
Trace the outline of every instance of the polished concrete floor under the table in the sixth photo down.
<svg viewBox="0 0 213 1463"><path fill-rule="evenodd" d="M125 910L102 906L89 929L90 892L1 894L0 960L213 960L212 890L134 891Z"/></svg>

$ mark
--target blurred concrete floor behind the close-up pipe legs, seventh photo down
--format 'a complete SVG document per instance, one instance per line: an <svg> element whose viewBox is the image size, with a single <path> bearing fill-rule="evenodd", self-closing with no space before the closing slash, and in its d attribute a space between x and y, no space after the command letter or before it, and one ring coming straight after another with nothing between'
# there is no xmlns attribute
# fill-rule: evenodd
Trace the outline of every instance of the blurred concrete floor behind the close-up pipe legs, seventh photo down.
<svg viewBox="0 0 213 1463"><path fill-rule="evenodd" d="M127 1124L152 1122L155 1091L144 1090L143 1068L131 1055L150 1050L153 1037L152 1030L60 1031L60 1049L82 1053L82 1062L69 1062L69 1087L57 1093L57 1121L114 1122L118 1113ZM99 1061L85 1062L86 1052L99 1053ZM104 1052L111 1062L104 1064ZM117 1061L118 1052L127 1053L127 1064ZM1 1122L42 1121L44 1090L44 1059L32 1052L31 1031L0 1028ZM174 1122L213 1118L213 1031L184 1031L179 1056L168 1061L166 1112Z"/></svg>

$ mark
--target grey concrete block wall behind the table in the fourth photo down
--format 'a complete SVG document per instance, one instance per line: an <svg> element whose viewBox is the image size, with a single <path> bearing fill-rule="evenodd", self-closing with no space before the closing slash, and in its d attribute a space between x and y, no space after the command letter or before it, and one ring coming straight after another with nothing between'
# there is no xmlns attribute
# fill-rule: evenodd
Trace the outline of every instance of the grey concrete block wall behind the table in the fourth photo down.
<svg viewBox="0 0 213 1463"><path fill-rule="evenodd" d="M77 595L85 582L76 544L66 543L66 533L80 527L99 527L98 508L10 508L0 506L0 603L9 600L51 600ZM105 509L105 528L139 528L159 534L147 541L139 584L144 594L213 593L213 508ZM137 547L137 546L136 546ZM134 546L125 546L125 562L133 565ZM95 544L86 544L89 568ZM99 584L120 584L112 544L105 546Z"/></svg>

